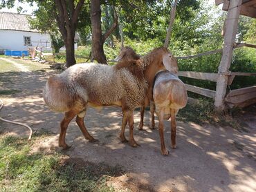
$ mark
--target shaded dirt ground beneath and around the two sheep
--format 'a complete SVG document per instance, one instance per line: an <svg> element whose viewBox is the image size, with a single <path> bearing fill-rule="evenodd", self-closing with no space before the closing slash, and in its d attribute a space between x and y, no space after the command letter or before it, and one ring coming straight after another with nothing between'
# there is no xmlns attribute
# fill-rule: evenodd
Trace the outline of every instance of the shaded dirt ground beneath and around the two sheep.
<svg viewBox="0 0 256 192"><path fill-rule="evenodd" d="M19 73L15 85L22 90L13 97L3 97L1 117L26 122L35 131L51 131L55 135L38 143L35 151L60 150L57 146L62 114L48 111L42 99L42 88L48 75L55 72ZM9 74L1 74L6 75ZM178 122L177 148L170 149L170 122L165 122L165 142L170 155L160 153L158 130L149 129L149 113L145 131L135 128L135 140L141 144L131 148L118 140L122 117L120 108L90 108L85 123L89 132L100 141L84 140L80 129L71 122L66 142L72 147L63 153L77 160L121 165L125 174L111 179L111 184L130 191L256 191L256 115L245 116L248 133L229 127ZM138 126L139 113L135 113ZM156 122L157 125L157 122ZM26 128L0 122L0 131L28 135ZM128 128L127 132L128 134Z"/></svg>

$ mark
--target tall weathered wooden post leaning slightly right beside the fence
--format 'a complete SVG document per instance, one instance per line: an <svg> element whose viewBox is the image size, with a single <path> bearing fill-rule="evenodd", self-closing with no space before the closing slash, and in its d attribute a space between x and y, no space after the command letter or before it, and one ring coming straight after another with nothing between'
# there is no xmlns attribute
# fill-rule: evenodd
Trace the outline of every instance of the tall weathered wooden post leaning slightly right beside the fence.
<svg viewBox="0 0 256 192"><path fill-rule="evenodd" d="M226 25L224 26L225 35L223 52L221 57L221 63L219 65L219 77L217 79L216 96L214 101L214 106L217 111L223 111L225 109L224 99L226 96L226 88L228 85L228 75L230 75L229 68L232 59L232 50L235 42L235 35L237 33L241 3L242 0L232 0L230 1L228 8Z"/></svg>

